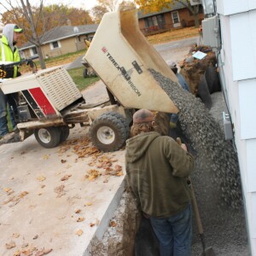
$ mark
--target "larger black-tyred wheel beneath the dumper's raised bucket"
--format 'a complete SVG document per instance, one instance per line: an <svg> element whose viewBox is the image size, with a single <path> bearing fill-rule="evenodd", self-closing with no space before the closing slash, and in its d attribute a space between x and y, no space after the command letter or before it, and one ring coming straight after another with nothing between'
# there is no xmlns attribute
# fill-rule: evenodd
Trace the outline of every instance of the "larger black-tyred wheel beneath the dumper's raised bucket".
<svg viewBox="0 0 256 256"><path fill-rule="evenodd" d="M116 151L121 148L127 138L125 125L116 116L103 113L90 126L92 143L102 151Z"/></svg>

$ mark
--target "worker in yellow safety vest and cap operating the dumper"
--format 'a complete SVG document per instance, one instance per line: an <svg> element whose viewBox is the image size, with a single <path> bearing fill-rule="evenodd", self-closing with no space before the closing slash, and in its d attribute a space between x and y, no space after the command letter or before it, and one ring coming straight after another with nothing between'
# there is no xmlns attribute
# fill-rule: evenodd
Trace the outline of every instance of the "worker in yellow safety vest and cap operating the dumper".
<svg viewBox="0 0 256 256"><path fill-rule="evenodd" d="M20 33L23 30L15 24L7 24L3 27L3 36L0 39L0 69L2 70L1 79L12 79L20 75L17 66L7 67L1 65L20 61L19 50L16 44ZM13 95L4 95L0 88L0 142L8 142L15 137L15 132L9 132L7 113L9 113L13 128L15 128L15 109L16 103Z"/></svg>

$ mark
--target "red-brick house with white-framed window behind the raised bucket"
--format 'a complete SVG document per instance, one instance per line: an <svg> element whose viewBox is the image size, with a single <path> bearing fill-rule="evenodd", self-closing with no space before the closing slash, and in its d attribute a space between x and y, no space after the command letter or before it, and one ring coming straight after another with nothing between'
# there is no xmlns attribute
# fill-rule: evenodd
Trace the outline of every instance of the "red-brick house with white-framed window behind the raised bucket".
<svg viewBox="0 0 256 256"><path fill-rule="evenodd" d="M195 26L194 15L182 3L175 3L170 9L158 13L143 14L138 11L139 28L145 36L170 31L185 26ZM199 5L199 21L204 19L203 8Z"/></svg>

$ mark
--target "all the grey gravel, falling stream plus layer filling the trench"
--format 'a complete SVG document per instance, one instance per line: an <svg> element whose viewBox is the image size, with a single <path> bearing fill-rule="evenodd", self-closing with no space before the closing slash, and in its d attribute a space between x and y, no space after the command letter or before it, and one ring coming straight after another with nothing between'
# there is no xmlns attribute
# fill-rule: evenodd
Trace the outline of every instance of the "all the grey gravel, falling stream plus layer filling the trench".
<svg viewBox="0 0 256 256"><path fill-rule="evenodd" d="M212 95L209 111L200 99L179 84L154 70L150 72L179 109L183 136L195 155L195 171L191 178L207 247L212 247L217 255L250 255L236 149L230 141L224 140L220 118L224 111L222 93ZM194 219L192 255L201 253Z"/></svg>

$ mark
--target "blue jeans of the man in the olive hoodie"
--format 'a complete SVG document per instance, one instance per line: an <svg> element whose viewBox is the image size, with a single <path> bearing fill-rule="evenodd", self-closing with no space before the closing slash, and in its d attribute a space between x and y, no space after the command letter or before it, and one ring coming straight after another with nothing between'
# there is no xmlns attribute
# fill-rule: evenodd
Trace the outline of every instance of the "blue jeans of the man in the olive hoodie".
<svg viewBox="0 0 256 256"><path fill-rule="evenodd" d="M191 255L191 205L171 218L150 217L150 222L160 242L160 256Z"/></svg>

